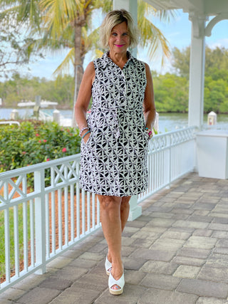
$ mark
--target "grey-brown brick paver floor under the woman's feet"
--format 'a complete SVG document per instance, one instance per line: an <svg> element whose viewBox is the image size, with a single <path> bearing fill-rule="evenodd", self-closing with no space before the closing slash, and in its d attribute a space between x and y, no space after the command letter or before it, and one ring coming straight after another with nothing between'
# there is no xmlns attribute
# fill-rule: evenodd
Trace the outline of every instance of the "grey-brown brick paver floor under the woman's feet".
<svg viewBox="0 0 228 304"><path fill-rule="evenodd" d="M123 233L123 295L108 291L106 252L99 230L0 303L228 303L228 181L192 173L143 202Z"/></svg>

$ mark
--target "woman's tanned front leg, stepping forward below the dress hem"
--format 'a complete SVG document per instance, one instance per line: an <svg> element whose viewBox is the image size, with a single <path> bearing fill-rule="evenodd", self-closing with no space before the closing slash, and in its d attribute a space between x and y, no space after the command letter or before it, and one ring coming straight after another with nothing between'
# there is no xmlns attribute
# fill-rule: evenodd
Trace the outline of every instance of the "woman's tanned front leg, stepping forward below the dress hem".
<svg viewBox="0 0 228 304"><path fill-rule="evenodd" d="M110 261L112 262L112 275L118 280L123 275L121 260L121 197L98 195L100 201L100 220L103 234L108 243ZM118 289L117 286L115 286Z"/></svg>

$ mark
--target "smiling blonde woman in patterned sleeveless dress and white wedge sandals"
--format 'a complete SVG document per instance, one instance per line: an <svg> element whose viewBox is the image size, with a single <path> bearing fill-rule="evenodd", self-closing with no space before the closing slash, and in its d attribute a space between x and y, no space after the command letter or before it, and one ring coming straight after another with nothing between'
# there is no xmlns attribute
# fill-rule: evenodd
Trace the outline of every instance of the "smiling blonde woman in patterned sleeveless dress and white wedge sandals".
<svg viewBox="0 0 228 304"><path fill-rule="evenodd" d="M128 52L137 43L133 19L111 11L101 26L108 51L88 64L76 102L81 130L81 187L98 194L110 293L123 293L121 234L130 196L147 188L147 145L155 122L150 68ZM93 98L91 113L86 112Z"/></svg>

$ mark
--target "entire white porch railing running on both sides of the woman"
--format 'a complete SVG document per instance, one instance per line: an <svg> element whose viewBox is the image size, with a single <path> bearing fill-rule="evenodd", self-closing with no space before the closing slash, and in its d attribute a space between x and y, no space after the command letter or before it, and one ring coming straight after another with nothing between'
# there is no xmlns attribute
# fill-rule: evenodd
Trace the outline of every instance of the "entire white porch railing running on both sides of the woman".
<svg viewBox="0 0 228 304"><path fill-rule="evenodd" d="M138 202L195 167L195 128L156 135ZM100 228L94 194L79 188L80 154L0 174L0 293ZM28 187L31 185L31 187ZM1 231L1 230L0 230Z"/></svg>

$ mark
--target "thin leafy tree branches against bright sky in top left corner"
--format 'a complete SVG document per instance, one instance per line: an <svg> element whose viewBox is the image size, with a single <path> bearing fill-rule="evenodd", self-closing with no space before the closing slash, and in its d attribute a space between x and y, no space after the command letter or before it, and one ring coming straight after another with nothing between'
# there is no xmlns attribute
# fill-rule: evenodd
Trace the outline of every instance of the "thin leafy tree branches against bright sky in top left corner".
<svg viewBox="0 0 228 304"><path fill-rule="evenodd" d="M33 53L31 45L34 37L26 32L28 1L24 1L21 10L18 9L18 2L14 0L0 0L0 6L0 78L7 78L22 65L28 65L31 54L33 54L32 61L43 56L39 52ZM34 19L37 14L33 15Z"/></svg>

